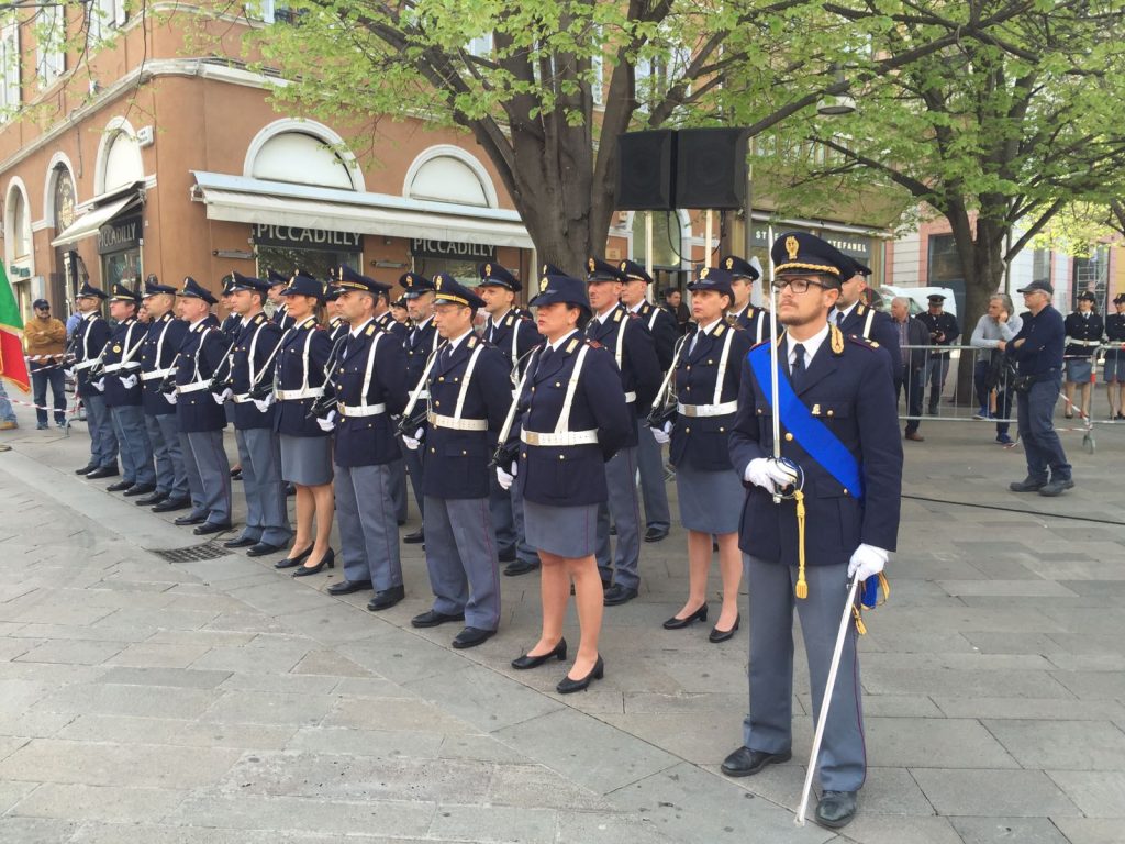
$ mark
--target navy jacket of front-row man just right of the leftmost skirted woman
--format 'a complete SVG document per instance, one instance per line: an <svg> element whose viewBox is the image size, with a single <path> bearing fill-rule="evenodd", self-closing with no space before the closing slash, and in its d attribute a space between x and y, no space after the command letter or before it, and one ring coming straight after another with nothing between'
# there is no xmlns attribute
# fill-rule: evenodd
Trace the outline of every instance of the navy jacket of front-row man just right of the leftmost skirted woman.
<svg viewBox="0 0 1125 844"><path fill-rule="evenodd" d="M376 348L371 385L363 396L363 378L372 344ZM358 405L366 399L368 404L385 404L387 410L354 419L343 414L336 424L338 466L379 466L402 459L390 417L406 406L406 352L387 332L368 323L359 336L348 335L340 359L332 367L336 401Z"/></svg>

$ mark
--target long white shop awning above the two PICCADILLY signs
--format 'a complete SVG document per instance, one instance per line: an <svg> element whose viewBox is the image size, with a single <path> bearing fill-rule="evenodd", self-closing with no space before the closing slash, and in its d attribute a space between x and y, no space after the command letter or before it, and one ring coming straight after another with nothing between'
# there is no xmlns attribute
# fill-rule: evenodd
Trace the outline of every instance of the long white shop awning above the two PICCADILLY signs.
<svg viewBox="0 0 1125 844"><path fill-rule="evenodd" d="M195 172L208 219L532 249L515 212Z"/></svg>

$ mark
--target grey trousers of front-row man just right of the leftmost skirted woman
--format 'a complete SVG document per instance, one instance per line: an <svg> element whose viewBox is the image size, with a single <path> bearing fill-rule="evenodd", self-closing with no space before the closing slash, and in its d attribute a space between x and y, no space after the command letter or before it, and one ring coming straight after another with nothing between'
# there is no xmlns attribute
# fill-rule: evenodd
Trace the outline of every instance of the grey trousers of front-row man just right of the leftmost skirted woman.
<svg viewBox="0 0 1125 844"><path fill-rule="evenodd" d="M390 466L336 465L332 482L344 578L371 581L377 592L403 585Z"/></svg>

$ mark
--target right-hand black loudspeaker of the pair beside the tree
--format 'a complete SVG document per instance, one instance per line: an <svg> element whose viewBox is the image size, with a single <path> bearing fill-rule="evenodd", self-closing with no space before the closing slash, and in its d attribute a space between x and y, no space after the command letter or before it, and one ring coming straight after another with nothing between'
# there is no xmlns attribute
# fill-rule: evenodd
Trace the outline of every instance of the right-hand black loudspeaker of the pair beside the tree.
<svg viewBox="0 0 1125 844"><path fill-rule="evenodd" d="M676 142L676 203L713 210L746 204L745 129L681 129Z"/></svg>

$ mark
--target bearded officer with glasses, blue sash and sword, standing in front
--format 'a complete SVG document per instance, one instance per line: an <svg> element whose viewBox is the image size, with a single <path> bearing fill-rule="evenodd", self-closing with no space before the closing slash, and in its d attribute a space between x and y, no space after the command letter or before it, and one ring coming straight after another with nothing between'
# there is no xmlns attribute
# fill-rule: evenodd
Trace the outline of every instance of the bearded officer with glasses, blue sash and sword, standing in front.
<svg viewBox="0 0 1125 844"><path fill-rule="evenodd" d="M794 607L817 718L848 584L883 571L899 527L902 445L886 354L828 324L850 262L804 233L782 234L773 259L777 317L786 326L780 398L771 393L770 347L759 344L744 359L730 436L731 461L748 486L739 545L750 594L753 690L742 746L722 763L731 776L791 757ZM780 460L772 456L777 402ZM803 523L791 492L799 476ZM790 497L775 500L777 492ZM817 764L822 791L814 817L830 828L852 820L866 775L856 636L849 623Z"/></svg>

